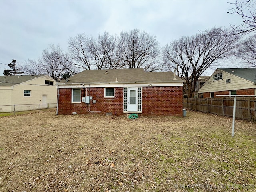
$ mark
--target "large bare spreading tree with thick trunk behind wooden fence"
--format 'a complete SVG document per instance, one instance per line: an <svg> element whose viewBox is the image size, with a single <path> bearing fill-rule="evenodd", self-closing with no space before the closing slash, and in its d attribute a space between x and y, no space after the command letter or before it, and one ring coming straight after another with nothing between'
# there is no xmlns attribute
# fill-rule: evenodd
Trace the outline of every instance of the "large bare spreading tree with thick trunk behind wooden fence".
<svg viewBox="0 0 256 192"><path fill-rule="evenodd" d="M223 36L223 31L226 34L233 33L227 29L212 28L202 34L182 37L165 46L164 63L169 69L177 69L179 76L184 78L189 98L194 97L196 81L202 73L234 54L238 47L239 36Z"/></svg>

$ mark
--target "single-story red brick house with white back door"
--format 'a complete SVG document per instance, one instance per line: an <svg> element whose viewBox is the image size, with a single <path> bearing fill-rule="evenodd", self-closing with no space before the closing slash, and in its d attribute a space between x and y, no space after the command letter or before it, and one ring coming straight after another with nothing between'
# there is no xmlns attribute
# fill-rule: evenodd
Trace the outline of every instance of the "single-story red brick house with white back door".
<svg viewBox="0 0 256 192"><path fill-rule="evenodd" d="M57 85L57 114L182 116L183 80L173 72L84 70Z"/></svg>

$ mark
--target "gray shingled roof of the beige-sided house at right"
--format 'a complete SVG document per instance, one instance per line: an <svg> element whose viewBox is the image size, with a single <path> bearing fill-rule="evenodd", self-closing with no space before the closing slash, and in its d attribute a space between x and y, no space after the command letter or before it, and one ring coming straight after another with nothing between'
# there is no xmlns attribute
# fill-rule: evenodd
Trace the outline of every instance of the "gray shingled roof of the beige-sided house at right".
<svg viewBox="0 0 256 192"><path fill-rule="evenodd" d="M256 68L231 68L219 70L256 83Z"/></svg>

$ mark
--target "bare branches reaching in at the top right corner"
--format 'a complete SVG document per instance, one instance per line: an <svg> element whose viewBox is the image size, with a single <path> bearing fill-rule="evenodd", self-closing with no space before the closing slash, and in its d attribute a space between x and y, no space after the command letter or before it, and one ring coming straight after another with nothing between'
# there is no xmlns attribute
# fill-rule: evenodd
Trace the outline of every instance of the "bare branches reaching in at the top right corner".
<svg viewBox="0 0 256 192"><path fill-rule="evenodd" d="M236 30L236 34L247 34L256 30L256 1L245 0L230 3L234 8L230 10L230 14L237 14L242 17L243 23L240 25L231 25Z"/></svg>

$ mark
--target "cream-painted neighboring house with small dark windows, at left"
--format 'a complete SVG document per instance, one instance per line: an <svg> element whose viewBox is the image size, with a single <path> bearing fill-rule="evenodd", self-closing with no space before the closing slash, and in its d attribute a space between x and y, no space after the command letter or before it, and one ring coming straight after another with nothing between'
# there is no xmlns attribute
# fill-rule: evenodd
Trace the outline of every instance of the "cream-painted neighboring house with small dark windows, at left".
<svg viewBox="0 0 256 192"><path fill-rule="evenodd" d="M48 75L0 76L0 112L56 107L56 81ZM42 105L41 105L42 104Z"/></svg>

